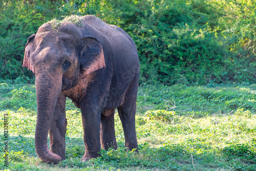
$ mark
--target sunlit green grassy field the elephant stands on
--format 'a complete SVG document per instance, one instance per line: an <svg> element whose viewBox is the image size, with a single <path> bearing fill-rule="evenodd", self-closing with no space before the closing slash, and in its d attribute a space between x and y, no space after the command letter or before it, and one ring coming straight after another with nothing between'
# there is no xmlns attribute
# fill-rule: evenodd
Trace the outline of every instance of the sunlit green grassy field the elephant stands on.
<svg viewBox="0 0 256 171"><path fill-rule="evenodd" d="M0 84L1 149L8 115L10 170L256 170L256 85L142 85L137 101L139 153L127 152L115 115L118 149L81 162L81 113L67 101L66 160L42 163L34 147L34 84ZM1 150L1 156L5 153ZM0 170L4 167L1 159Z"/></svg>

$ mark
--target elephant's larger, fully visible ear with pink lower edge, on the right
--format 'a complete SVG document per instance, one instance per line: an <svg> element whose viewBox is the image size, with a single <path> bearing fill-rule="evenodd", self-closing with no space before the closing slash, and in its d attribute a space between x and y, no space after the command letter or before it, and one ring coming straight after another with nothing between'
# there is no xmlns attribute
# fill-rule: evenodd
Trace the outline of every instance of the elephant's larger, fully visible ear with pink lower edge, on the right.
<svg viewBox="0 0 256 171"><path fill-rule="evenodd" d="M94 71L105 68L105 59L102 46L99 40L94 36L82 37L83 49L81 51L80 69L81 78Z"/></svg>

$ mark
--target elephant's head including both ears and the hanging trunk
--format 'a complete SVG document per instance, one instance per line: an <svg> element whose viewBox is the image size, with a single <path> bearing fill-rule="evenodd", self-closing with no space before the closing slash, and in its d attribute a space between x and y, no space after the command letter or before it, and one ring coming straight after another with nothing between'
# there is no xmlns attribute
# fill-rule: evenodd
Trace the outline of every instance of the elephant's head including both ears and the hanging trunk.
<svg viewBox="0 0 256 171"><path fill-rule="evenodd" d="M61 161L49 151L47 137L57 99L61 91L76 86L90 73L105 68L103 48L98 38L83 35L72 23L59 28L42 25L28 38L23 67L35 74L37 122L36 153L42 161Z"/></svg>

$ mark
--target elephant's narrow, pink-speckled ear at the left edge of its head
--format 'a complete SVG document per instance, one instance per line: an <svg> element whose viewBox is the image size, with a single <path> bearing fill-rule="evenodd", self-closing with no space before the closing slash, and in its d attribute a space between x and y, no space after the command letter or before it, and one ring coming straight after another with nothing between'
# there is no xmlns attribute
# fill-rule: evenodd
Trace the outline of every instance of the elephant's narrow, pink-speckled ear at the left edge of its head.
<svg viewBox="0 0 256 171"><path fill-rule="evenodd" d="M31 54L35 51L35 42L34 42L35 34L31 35L28 38L27 44L25 45L25 55L23 60L23 67L27 68L28 70L31 70L33 73L35 73L35 67L33 65Z"/></svg>

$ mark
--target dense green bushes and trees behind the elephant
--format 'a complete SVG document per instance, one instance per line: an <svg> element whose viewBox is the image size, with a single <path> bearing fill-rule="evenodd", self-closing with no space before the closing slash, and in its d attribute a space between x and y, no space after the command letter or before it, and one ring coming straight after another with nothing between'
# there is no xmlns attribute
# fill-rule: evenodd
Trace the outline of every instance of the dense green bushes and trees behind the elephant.
<svg viewBox="0 0 256 171"><path fill-rule="evenodd" d="M253 0L0 2L0 78L33 78L22 68L27 38L64 15L98 16L137 45L140 82L206 84L256 80Z"/></svg>

